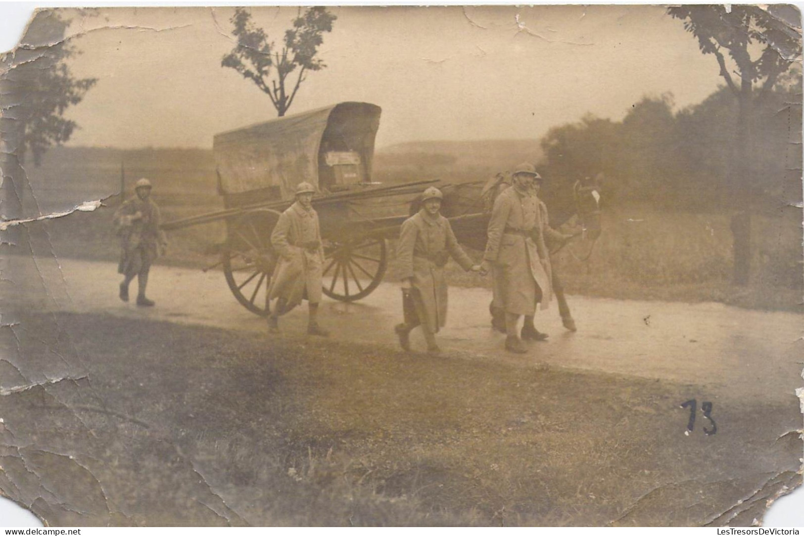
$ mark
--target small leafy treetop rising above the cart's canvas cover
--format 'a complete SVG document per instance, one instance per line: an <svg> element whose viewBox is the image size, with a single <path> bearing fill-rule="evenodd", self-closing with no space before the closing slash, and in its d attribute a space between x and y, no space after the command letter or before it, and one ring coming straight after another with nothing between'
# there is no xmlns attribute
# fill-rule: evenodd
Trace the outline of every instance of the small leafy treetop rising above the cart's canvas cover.
<svg viewBox="0 0 804 536"><path fill-rule="evenodd" d="M279 50L273 41L269 42L265 30L254 25L251 12L238 7L230 19L237 45L224 55L220 65L235 69L246 80L256 84L260 91L267 93L279 117L283 117L293 104L307 73L326 67L318 58L318 47L324 42L323 33L332 31L336 18L325 7L309 7L303 13L300 8L293 20L293 28L285 31ZM276 76L272 79L273 69L276 69ZM293 72L297 72L295 83L289 80ZM293 84L290 92L289 82Z"/></svg>

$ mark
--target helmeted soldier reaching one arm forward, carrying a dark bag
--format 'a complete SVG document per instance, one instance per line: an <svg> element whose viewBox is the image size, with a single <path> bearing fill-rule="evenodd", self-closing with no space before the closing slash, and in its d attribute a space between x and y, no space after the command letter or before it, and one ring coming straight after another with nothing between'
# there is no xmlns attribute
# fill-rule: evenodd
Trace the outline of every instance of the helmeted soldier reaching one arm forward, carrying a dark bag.
<svg viewBox="0 0 804 536"><path fill-rule="evenodd" d="M479 272L455 239L449 220L442 216L441 190L429 187L421 195L422 207L402 223L396 259L402 277L404 322L394 330L400 346L410 351L410 332L421 325L429 354L438 354L435 333L446 323L447 284L444 265L452 256L466 271Z"/></svg>

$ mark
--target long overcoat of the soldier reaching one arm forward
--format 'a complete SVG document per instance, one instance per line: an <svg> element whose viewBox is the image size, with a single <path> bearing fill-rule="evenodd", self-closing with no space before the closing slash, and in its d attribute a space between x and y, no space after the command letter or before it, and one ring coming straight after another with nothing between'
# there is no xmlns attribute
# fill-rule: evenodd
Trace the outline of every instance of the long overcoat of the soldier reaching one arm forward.
<svg viewBox="0 0 804 536"><path fill-rule="evenodd" d="M419 292L426 319L420 321L430 333L446 325L447 283L444 265L451 256L464 270L472 268L472 260L457 243L449 220L433 217L422 208L402 223L396 260L400 277L412 278Z"/></svg>

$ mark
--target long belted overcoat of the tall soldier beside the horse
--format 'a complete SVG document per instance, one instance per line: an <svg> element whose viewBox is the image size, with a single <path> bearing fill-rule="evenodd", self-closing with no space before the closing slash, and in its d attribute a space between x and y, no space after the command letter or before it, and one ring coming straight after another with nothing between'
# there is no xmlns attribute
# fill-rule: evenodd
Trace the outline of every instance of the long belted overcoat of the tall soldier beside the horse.
<svg viewBox="0 0 804 536"><path fill-rule="evenodd" d="M535 195L515 187L494 200L483 259L491 264L493 306L507 313L531 316L537 300L546 309L552 299L542 207Z"/></svg>

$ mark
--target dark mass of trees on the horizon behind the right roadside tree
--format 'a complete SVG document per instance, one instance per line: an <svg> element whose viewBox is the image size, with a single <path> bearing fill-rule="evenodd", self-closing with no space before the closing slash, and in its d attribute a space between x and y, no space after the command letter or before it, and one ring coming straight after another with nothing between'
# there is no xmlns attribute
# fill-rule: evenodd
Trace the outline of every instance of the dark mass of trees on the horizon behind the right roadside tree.
<svg viewBox="0 0 804 536"><path fill-rule="evenodd" d="M733 180L737 110L728 88L674 110L673 96L644 96L622 121L587 114L549 129L539 169L564 186L604 177L607 203L650 203L701 211L733 207L750 197L757 207L800 202L802 78L777 87L753 111L749 181Z"/></svg>

